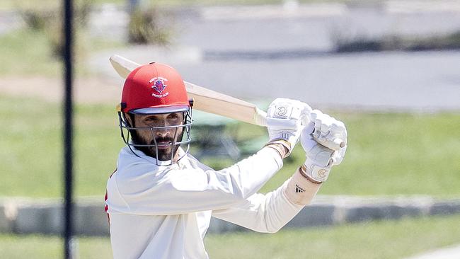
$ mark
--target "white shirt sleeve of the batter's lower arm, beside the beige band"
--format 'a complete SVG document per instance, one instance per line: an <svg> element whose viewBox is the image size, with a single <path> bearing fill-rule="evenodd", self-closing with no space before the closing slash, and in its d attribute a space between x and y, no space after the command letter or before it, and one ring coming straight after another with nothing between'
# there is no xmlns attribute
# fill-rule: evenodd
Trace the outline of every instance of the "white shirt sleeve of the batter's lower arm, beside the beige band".
<svg viewBox="0 0 460 259"><path fill-rule="evenodd" d="M304 207L287 198L286 190L290 180L266 195L256 193L228 209L214 210L212 216L253 231L275 233ZM312 198L319 187L320 185L307 184L304 192L311 194Z"/></svg>

